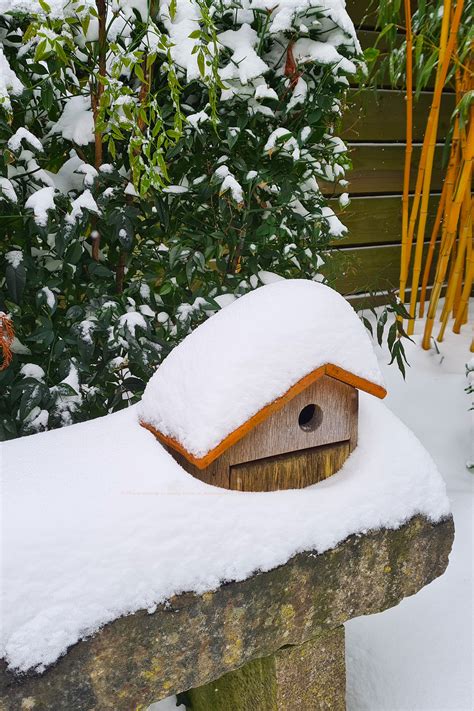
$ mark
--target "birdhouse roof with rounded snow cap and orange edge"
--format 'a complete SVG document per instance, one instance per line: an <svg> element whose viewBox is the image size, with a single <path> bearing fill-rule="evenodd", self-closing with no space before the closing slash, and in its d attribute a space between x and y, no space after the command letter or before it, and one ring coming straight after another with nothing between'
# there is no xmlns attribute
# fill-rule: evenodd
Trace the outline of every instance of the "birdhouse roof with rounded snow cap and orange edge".
<svg viewBox="0 0 474 711"><path fill-rule="evenodd" d="M149 381L140 419L204 467L246 434L257 413L261 422L275 401L283 406L324 373L386 394L372 343L350 304L323 284L282 279L242 296L187 336Z"/></svg>

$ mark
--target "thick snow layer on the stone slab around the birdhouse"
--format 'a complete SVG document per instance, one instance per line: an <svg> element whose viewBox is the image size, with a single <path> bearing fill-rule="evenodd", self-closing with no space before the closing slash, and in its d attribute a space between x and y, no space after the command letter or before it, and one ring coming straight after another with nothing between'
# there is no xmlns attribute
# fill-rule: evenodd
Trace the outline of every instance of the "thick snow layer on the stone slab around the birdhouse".
<svg viewBox="0 0 474 711"><path fill-rule="evenodd" d="M1 456L0 656L18 670L41 670L105 623L182 591L213 590L418 513L449 513L428 453L365 393L358 447L306 489L204 484L139 426L136 407L7 442Z"/></svg>

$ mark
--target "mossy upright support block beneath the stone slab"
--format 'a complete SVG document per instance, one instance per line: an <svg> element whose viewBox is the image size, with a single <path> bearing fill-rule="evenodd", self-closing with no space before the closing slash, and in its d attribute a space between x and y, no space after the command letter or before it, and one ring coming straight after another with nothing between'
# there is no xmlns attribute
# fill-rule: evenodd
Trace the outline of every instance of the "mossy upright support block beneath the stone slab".
<svg viewBox="0 0 474 711"><path fill-rule="evenodd" d="M189 692L189 711L345 711L344 627Z"/></svg>

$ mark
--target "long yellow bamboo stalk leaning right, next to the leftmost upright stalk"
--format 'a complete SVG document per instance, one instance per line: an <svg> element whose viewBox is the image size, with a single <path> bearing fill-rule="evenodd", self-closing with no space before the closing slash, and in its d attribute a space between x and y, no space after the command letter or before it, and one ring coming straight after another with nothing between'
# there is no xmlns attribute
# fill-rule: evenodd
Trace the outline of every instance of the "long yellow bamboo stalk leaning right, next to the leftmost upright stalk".
<svg viewBox="0 0 474 711"><path fill-rule="evenodd" d="M451 13L451 0L445 0L443 21L441 25L441 40L439 52L438 71L436 72L436 83L433 94L433 101L430 109L431 130L426 154L426 165L423 176L423 192L420 207L420 219L418 222L418 232L416 236L415 259L413 263L411 299L410 299L410 320L408 321L407 333L412 335L415 328L416 303L418 299L418 286L421 274L421 262L423 257L423 246L425 240L426 220L428 217L428 202L430 199L431 176L433 171L434 151L438 134L439 110L441 106L441 96L446 81L446 76L451 62L451 55L456 44L459 23L463 10L464 0L458 0L456 10L453 15L453 22L449 28L449 15ZM449 30L449 39L448 37Z"/></svg>

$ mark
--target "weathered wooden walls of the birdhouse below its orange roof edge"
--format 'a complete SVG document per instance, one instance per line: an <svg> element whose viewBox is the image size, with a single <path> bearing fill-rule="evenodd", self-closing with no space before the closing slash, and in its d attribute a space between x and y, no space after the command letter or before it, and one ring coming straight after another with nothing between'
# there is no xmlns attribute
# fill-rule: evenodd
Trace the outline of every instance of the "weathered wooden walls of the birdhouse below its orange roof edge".
<svg viewBox="0 0 474 711"><path fill-rule="evenodd" d="M204 469L171 453L199 479L239 491L309 486L335 474L357 444L358 391L322 376Z"/></svg>

